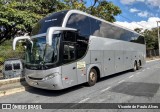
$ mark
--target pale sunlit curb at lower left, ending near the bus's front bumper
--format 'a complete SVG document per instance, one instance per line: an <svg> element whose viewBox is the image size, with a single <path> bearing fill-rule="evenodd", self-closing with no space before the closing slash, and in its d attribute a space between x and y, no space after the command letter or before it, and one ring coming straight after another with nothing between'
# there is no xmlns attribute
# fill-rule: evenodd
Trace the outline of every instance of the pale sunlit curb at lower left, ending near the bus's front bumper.
<svg viewBox="0 0 160 112"><path fill-rule="evenodd" d="M0 97L11 95L11 94L14 94L14 93L23 92L23 91L26 91L26 90L29 90L29 89L30 89L30 87L26 86L26 87L18 87L18 88L3 90L3 91L0 91Z"/></svg>

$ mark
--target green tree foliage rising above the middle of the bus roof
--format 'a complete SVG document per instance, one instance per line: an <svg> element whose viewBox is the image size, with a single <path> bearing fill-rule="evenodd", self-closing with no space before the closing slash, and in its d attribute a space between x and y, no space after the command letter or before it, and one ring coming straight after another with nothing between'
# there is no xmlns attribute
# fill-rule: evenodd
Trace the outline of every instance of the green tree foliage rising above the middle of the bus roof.
<svg viewBox="0 0 160 112"><path fill-rule="evenodd" d="M115 22L115 16L121 14L121 9L118 6L106 0L95 0L94 5L89 7L85 6L86 2L83 0L64 0L64 3L69 9L82 10L110 22Z"/></svg>

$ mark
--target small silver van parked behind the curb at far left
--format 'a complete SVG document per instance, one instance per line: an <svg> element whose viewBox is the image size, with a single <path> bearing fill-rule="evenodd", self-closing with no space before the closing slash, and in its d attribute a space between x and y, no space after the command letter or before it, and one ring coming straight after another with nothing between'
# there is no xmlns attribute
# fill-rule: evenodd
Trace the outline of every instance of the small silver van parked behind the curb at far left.
<svg viewBox="0 0 160 112"><path fill-rule="evenodd" d="M21 59L8 59L4 62L3 78L23 77L23 63Z"/></svg>

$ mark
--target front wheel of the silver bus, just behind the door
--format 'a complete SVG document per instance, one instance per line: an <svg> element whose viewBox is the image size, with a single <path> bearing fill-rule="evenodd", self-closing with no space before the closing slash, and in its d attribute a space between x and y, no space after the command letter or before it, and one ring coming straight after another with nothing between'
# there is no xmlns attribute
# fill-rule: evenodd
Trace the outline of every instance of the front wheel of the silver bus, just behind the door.
<svg viewBox="0 0 160 112"><path fill-rule="evenodd" d="M95 69L91 69L91 71L89 72L89 80L87 82L88 86L93 86L95 85L97 82L97 71Z"/></svg>

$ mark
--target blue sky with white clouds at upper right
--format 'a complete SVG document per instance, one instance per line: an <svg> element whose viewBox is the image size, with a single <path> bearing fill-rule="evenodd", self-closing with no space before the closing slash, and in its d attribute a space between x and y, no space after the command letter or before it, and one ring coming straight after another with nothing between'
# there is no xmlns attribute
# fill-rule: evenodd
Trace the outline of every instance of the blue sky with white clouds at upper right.
<svg viewBox="0 0 160 112"><path fill-rule="evenodd" d="M93 4L94 0L87 0ZM120 7L122 13L116 16L115 24L134 30L151 29L160 21L160 0L107 0ZM160 22L159 22L160 26Z"/></svg>

